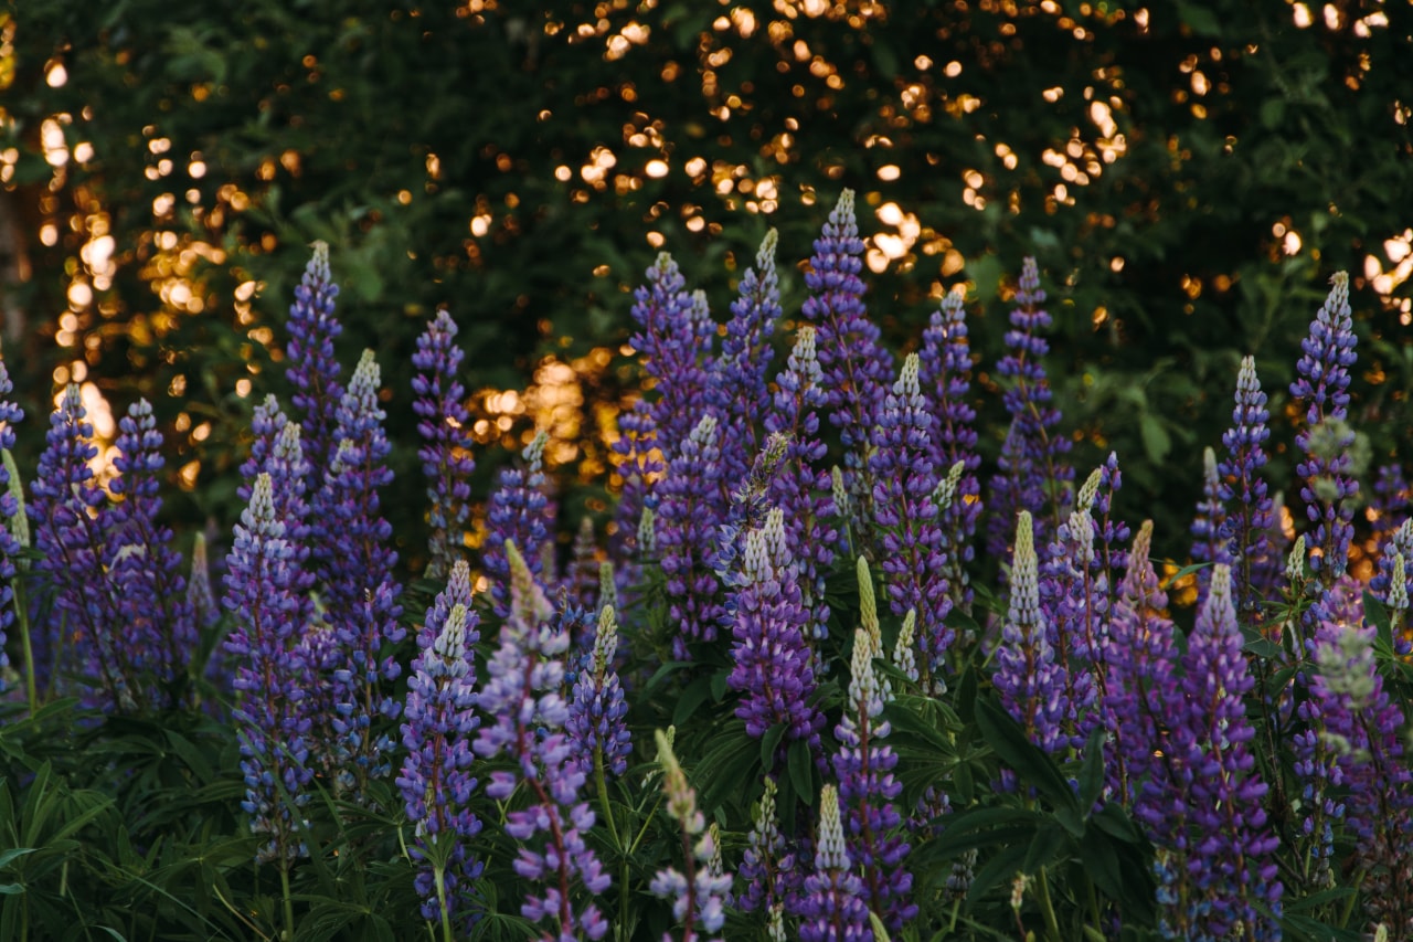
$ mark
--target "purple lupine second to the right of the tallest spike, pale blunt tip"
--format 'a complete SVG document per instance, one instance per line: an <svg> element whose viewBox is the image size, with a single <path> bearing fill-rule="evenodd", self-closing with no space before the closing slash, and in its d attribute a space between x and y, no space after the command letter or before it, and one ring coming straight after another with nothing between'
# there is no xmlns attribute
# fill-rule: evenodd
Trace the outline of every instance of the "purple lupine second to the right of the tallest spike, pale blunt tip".
<svg viewBox="0 0 1413 942"><path fill-rule="evenodd" d="M931 324L923 331L918 380L933 413L928 443L933 467L951 468L962 464L954 489L954 499L942 508L942 554L947 563L947 591L955 605L971 611L972 588L966 566L976 547L976 519L982 512L981 455L976 454L976 410L966 400L971 395L971 342L966 338L966 310L962 293L948 291L942 306L933 313Z"/></svg>

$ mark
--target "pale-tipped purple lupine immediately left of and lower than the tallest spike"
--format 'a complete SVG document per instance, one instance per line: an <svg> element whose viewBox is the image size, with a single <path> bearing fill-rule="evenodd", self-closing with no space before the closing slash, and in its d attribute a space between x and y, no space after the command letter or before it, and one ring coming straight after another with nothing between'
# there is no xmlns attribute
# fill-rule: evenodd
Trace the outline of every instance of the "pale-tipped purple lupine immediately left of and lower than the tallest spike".
<svg viewBox="0 0 1413 942"><path fill-rule="evenodd" d="M808 636L815 641L829 631L824 577L834 564L839 539L831 525L839 511L829 495L829 472L817 467L825 455L818 416L824 403L815 331L804 325L796 335L786 368L776 376L776 393L764 424L769 433L788 437L784 468L770 482L769 501L784 513L790 554L800 567L801 597L811 612Z"/></svg>

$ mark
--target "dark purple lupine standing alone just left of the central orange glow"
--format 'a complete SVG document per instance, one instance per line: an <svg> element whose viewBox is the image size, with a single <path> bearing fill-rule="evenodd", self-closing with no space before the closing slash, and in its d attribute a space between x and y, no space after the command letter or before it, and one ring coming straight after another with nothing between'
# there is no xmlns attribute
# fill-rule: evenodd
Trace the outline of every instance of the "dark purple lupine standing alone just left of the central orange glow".
<svg viewBox="0 0 1413 942"><path fill-rule="evenodd" d="M452 563L461 557L469 512L466 502L471 499L471 472L476 468L471 457L466 390L456 379L462 356L456 345L456 321L447 308L441 308L417 338L417 352L413 354L413 366L420 371L413 376L413 392L417 393L413 412L417 413L417 433L422 437L417 457L422 463L427 498L431 502L428 578L445 577Z"/></svg>

